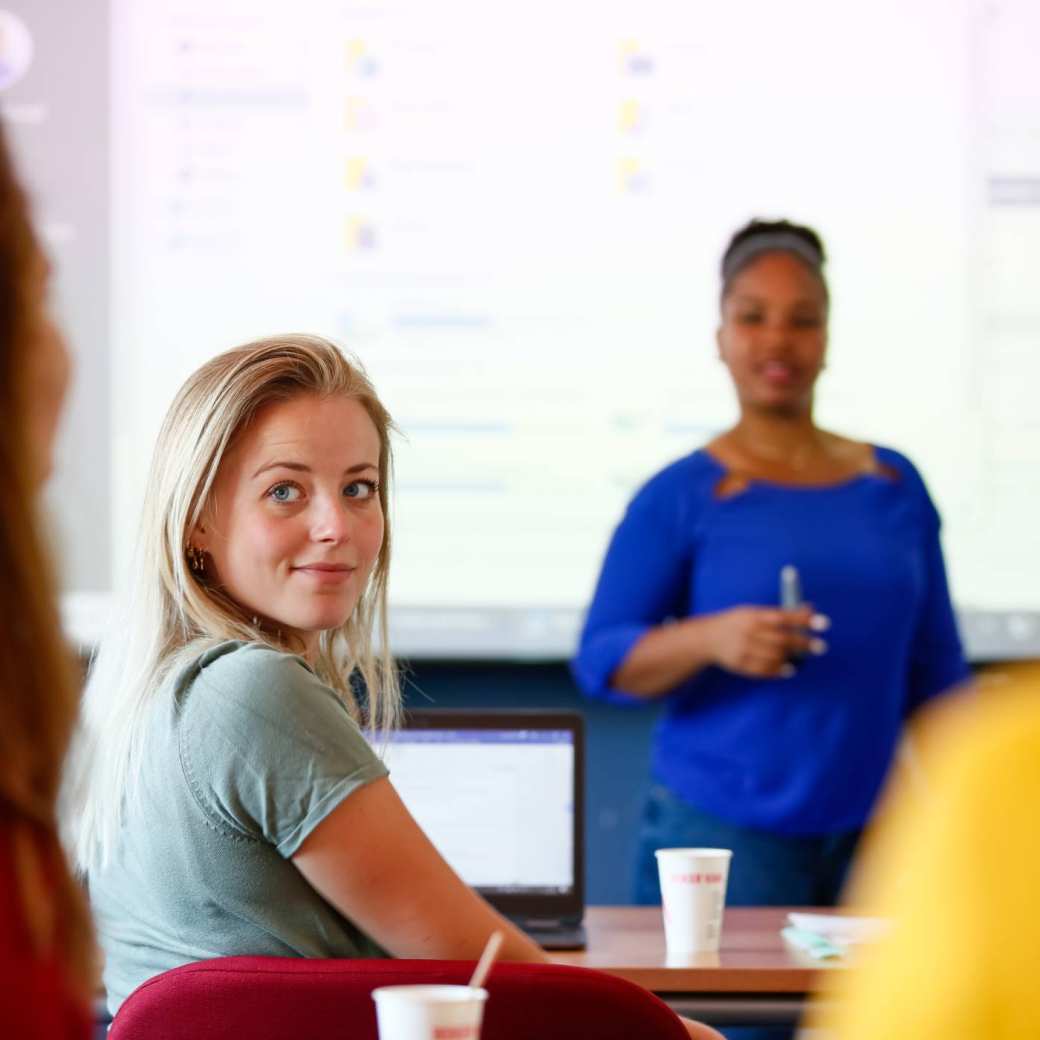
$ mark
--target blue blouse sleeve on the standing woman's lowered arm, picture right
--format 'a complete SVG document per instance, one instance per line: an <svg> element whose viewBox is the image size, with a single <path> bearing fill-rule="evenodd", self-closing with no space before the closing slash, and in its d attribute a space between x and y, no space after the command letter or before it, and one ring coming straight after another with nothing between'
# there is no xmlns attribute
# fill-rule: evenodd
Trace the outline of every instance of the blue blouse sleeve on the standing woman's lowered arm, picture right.
<svg viewBox="0 0 1040 1040"><path fill-rule="evenodd" d="M968 678L939 541L939 514L914 472L924 513L925 598L910 647L906 713Z"/></svg>

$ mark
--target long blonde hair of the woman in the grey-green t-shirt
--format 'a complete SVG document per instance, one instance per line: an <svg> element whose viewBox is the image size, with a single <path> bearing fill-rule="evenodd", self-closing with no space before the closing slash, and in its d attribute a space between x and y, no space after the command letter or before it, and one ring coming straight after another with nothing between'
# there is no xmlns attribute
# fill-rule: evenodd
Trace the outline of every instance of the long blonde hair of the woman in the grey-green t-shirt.
<svg viewBox="0 0 1040 1040"><path fill-rule="evenodd" d="M315 670L359 722L385 730L398 721L400 695L387 638L390 415L361 366L319 337L275 336L218 355L187 380L166 413L152 459L129 595L87 682L67 816L76 862L87 875L108 860L118 843L126 800L137 788L147 718L163 680L225 640L301 650L281 633L265 630L215 583L197 577L185 551L238 435L265 405L301 394L345 396L368 413L380 437L379 501L385 521L368 584L343 626L321 633ZM355 674L364 684L364 704L352 686Z"/></svg>

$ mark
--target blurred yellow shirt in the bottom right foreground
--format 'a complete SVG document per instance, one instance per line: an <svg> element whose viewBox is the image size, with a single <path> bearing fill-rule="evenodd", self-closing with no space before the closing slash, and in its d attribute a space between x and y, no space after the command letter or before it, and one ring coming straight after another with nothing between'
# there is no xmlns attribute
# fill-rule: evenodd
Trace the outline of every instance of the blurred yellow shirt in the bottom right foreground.
<svg viewBox="0 0 1040 1040"><path fill-rule="evenodd" d="M1040 1037L1040 670L926 735L925 797L892 799L856 900L893 930L809 1024L834 1040Z"/></svg>

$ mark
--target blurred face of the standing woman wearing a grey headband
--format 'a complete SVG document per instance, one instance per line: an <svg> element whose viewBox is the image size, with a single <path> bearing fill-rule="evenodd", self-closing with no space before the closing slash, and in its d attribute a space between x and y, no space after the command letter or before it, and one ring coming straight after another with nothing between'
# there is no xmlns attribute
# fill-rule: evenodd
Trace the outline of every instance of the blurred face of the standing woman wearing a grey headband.
<svg viewBox="0 0 1040 1040"><path fill-rule="evenodd" d="M719 356L743 408L806 411L827 350L827 294L789 253L763 253L723 300Z"/></svg>

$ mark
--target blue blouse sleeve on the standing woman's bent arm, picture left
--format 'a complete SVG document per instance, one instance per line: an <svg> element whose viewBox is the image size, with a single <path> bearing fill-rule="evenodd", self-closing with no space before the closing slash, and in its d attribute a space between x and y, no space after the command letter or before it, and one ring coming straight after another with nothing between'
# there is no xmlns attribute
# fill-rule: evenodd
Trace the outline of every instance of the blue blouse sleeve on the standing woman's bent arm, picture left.
<svg viewBox="0 0 1040 1040"><path fill-rule="evenodd" d="M651 482L610 540L571 672L590 697L627 703L614 673L651 628L684 610L693 554L681 537L680 503Z"/></svg>

